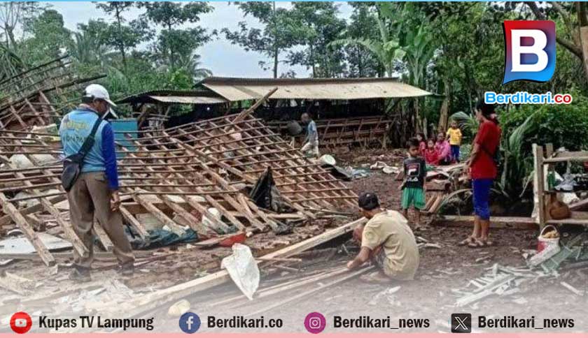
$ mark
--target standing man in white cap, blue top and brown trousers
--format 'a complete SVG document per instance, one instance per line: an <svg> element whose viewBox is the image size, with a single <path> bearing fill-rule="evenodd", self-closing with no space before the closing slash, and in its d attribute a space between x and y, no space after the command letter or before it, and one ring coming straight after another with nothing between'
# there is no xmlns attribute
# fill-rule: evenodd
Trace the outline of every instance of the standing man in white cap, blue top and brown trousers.
<svg viewBox="0 0 588 338"><path fill-rule="evenodd" d="M90 84L84 92L82 104L65 115L59 126L59 137L65 156L76 154L100 116L116 105L110 101L109 92L99 84ZM80 177L67 193L69 214L73 230L88 249L87 256L75 250L74 267L70 278L90 280L90 266L94 259L92 226L94 213L104 231L114 244L113 252L123 275L132 275L134 256L123 230L123 217L118 211L118 172L114 133L109 122L102 121L94 135L95 142L83 161Z"/></svg>

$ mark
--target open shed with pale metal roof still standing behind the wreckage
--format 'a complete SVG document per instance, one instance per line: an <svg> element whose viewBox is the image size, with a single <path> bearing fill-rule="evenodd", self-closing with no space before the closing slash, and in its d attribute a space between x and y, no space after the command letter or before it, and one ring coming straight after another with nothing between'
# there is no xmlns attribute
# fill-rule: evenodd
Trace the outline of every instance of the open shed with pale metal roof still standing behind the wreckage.
<svg viewBox="0 0 588 338"><path fill-rule="evenodd" d="M131 105L140 129L153 130L230 115L274 87L278 90L256 116L289 137L288 123L309 112L321 147L328 148L386 147L393 122L385 114L386 100L430 94L393 78L207 78L194 91L149 91L117 103ZM295 144L300 145L302 138L303 133L296 135Z"/></svg>

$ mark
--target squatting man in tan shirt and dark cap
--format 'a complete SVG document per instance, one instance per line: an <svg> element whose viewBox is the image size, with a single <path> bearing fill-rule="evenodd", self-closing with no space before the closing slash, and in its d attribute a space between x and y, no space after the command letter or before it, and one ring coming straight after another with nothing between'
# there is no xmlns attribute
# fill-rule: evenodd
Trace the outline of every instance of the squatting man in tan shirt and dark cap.
<svg viewBox="0 0 588 338"><path fill-rule="evenodd" d="M361 249L356 258L347 263L347 268L353 270L372 260L380 271L370 276L371 281L414 279L419 267L419 248L407 220L399 212L382 210L374 193L363 193L358 205L368 221L353 231Z"/></svg>

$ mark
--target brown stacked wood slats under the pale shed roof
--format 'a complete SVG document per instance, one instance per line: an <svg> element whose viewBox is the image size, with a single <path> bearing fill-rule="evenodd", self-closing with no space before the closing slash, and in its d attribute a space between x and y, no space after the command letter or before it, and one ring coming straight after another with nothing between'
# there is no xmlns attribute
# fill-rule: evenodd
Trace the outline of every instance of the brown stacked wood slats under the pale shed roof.
<svg viewBox="0 0 588 338"><path fill-rule="evenodd" d="M345 119L317 119L318 143L321 147L381 147L386 148L388 126L387 117L351 117ZM269 126L281 135L288 135L287 121L268 122ZM304 133L296 138L297 145L302 145Z"/></svg>

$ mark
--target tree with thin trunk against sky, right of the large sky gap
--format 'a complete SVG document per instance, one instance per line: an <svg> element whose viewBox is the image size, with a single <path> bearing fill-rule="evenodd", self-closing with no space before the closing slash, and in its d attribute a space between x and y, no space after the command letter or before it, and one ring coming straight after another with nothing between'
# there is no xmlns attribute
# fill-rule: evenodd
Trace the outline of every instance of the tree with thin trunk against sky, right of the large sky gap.
<svg viewBox="0 0 588 338"><path fill-rule="evenodd" d="M251 15L259 20L263 28L248 27L246 22L239 22L239 30L230 31L225 28L222 32L234 45L240 45L246 51L260 52L271 58L272 72L274 78L277 78L280 54L297 45L298 38L305 31L291 15L291 10L276 8L275 2L240 2L237 6L244 15ZM265 61L260 61L259 64L266 69Z"/></svg>

